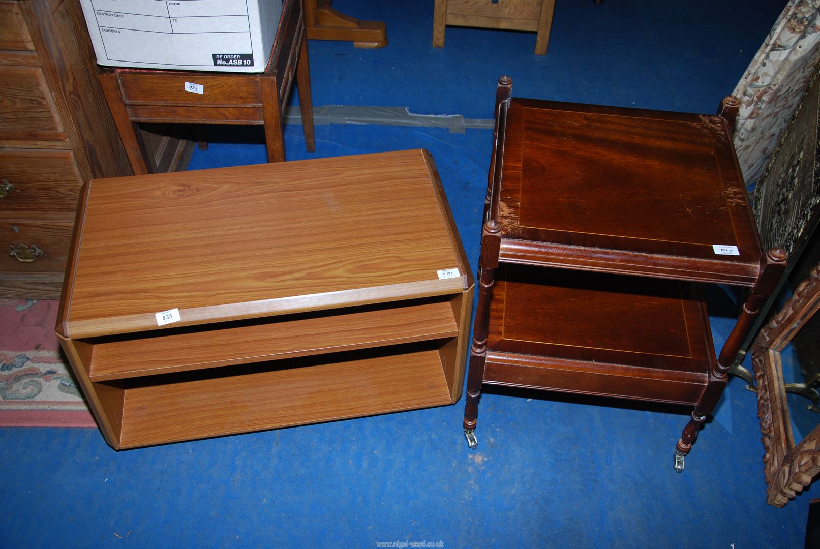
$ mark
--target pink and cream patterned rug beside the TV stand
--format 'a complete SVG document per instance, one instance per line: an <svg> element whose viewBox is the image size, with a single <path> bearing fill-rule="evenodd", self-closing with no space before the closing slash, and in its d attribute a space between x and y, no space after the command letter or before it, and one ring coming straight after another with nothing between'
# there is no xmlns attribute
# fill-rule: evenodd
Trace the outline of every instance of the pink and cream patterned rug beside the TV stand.
<svg viewBox="0 0 820 549"><path fill-rule="evenodd" d="M0 299L0 427L95 427L60 351L54 301Z"/></svg>

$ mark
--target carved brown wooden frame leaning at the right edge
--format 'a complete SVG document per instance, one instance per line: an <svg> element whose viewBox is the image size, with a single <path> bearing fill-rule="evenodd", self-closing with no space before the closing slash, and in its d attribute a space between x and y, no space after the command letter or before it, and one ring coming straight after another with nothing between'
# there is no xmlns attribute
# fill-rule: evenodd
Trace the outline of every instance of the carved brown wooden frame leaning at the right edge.
<svg viewBox="0 0 820 549"><path fill-rule="evenodd" d="M820 308L820 265L809 272L780 312L752 343L754 379L758 384L758 418L763 433L763 474L767 502L785 506L820 473L820 425L795 446L791 432L781 351Z"/></svg>

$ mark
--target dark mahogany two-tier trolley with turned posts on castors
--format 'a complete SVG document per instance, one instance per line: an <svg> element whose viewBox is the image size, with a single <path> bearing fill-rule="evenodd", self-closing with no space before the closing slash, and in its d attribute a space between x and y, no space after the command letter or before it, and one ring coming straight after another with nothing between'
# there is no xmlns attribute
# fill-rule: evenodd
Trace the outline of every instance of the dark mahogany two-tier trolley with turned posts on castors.
<svg viewBox="0 0 820 549"><path fill-rule="evenodd" d="M464 429L485 384L693 406L698 430L786 253L763 253L719 116L512 98L499 80ZM715 356L698 284L751 288Z"/></svg>

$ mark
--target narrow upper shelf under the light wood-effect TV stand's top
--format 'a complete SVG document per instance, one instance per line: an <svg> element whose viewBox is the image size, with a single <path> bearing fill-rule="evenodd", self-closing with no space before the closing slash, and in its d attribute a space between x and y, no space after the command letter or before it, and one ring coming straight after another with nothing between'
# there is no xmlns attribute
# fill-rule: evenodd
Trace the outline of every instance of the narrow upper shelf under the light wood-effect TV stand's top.
<svg viewBox="0 0 820 549"><path fill-rule="evenodd" d="M93 347L89 379L110 381L457 336L448 301L415 300L78 343Z"/></svg>

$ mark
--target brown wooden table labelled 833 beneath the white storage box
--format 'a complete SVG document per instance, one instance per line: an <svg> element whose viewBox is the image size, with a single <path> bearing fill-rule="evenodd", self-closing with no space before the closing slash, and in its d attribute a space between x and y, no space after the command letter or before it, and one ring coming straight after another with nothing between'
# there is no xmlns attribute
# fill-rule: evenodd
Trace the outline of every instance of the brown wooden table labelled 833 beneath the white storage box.
<svg viewBox="0 0 820 549"><path fill-rule="evenodd" d="M271 57L262 73L114 68L101 70L99 79L134 174L144 175L156 166L139 132L140 122L264 125L268 161L284 161L283 112L294 72L305 143L312 152L310 70L299 0L283 3Z"/></svg>

